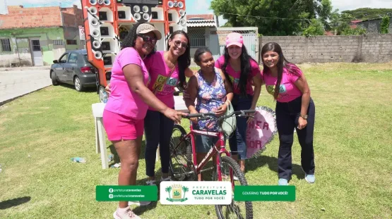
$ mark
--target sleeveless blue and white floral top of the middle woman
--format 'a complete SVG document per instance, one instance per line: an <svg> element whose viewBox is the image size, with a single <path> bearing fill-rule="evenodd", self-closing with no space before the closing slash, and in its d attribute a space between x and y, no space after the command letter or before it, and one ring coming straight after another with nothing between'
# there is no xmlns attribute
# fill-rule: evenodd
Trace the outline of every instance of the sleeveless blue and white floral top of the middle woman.
<svg viewBox="0 0 392 219"><path fill-rule="evenodd" d="M209 83L204 80L203 73L198 70L196 73L198 82L196 111L198 113L210 113L218 110L219 106L225 103L226 89L222 76L215 68L215 79ZM218 132L219 124L215 119L198 120L194 126L196 130L208 130Z"/></svg>

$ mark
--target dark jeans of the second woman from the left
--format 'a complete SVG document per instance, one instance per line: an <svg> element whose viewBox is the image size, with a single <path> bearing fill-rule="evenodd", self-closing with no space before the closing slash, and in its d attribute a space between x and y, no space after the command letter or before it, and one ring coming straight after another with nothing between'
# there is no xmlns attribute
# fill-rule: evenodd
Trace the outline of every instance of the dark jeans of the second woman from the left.
<svg viewBox="0 0 392 219"><path fill-rule="evenodd" d="M160 145L160 165L162 173L169 173L170 138L172 137L174 121L158 111L147 111L144 118L145 132L145 174L155 175L155 159Z"/></svg>

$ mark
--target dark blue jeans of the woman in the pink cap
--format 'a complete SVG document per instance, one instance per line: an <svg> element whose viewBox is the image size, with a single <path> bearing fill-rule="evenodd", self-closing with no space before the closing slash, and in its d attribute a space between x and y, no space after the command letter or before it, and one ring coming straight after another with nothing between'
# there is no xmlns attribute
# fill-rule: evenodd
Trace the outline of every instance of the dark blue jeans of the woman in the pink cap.
<svg viewBox="0 0 392 219"><path fill-rule="evenodd" d="M234 94L236 101L233 104L234 111L249 110L251 108L253 96L239 96ZM229 139L230 151L232 155L237 155L239 160L247 158L247 117L237 117L237 130L233 132Z"/></svg>

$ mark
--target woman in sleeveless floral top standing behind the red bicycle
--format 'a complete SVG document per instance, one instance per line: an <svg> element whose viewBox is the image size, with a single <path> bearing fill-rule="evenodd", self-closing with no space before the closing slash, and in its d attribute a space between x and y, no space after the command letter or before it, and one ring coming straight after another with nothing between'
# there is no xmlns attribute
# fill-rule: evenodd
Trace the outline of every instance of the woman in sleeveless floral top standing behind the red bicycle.
<svg viewBox="0 0 392 219"><path fill-rule="evenodd" d="M199 48L194 54L194 61L200 67L189 80L186 93L189 94L189 99L185 99L186 107L190 113L210 113L215 112L216 115L224 115L228 103L232 101L233 93L230 82L226 80L225 75L221 70L215 68L215 61L213 54L207 48ZM195 99L197 104L195 106ZM197 120L191 118L194 123L195 130L207 130L211 132L218 132L218 120ZM216 144L218 137L208 137L206 135L196 134L196 159L200 163L206 156L211 146ZM213 157L215 163L215 156ZM198 175L198 180L201 180L201 175Z"/></svg>

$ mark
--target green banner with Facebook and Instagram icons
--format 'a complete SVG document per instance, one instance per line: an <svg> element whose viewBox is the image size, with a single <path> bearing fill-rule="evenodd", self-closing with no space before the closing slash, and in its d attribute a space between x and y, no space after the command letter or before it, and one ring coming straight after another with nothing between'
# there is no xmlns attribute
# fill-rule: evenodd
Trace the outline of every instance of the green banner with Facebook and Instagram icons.
<svg viewBox="0 0 392 219"><path fill-rule="evenodd" d="M97 201L158 201L156 186L97 185Z"/></svg>

